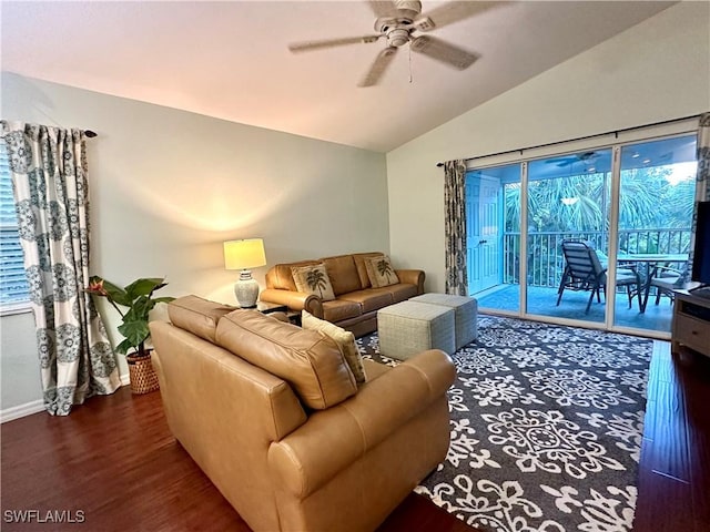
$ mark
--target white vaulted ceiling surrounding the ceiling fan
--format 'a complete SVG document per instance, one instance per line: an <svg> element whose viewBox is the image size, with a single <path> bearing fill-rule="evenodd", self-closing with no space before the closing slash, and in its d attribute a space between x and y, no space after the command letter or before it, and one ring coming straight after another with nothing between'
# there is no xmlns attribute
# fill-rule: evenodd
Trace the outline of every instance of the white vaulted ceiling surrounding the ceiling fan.
<svg viewBox="0 0 710 532"><path fill-rule="evenodd" d="M2 69L387 152L676 2L422 3L438 24L428 34L479 55L470 68L405 45L376 86L358 88L385 39L290 52L376 33L367 1L2 0Z"/></svg>

